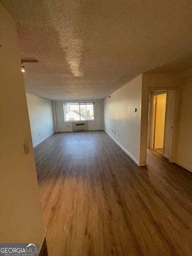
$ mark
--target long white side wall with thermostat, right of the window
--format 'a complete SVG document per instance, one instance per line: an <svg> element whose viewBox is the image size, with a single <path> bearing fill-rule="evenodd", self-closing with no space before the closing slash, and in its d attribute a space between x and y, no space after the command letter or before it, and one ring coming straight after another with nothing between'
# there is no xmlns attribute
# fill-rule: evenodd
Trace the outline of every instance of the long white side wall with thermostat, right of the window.
<svg viewBox="0 0 192 256"><path fill-rule="evenodd" d="M105 131L137 164L140 164L141 96L142 75L104 99ZM134 108L137 112L133 112Z"/></svg>

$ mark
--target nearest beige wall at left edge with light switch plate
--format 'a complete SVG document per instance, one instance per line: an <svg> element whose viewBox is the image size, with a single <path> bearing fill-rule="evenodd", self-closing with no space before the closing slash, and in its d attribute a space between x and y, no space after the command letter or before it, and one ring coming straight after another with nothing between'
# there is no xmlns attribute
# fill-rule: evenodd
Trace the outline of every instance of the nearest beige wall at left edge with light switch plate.
<svg viewBox="0 0 192 256"><path fill-rule="evenodd" d="M0 242L38 243L44 225L16 25L1 4L0 17Z"/></svg>

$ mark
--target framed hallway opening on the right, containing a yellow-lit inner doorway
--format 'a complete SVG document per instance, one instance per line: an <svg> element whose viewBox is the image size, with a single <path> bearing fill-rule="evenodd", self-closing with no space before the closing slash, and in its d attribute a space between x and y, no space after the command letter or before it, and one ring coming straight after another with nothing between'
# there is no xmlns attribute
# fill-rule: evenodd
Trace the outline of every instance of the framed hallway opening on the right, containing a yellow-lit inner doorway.
<svg viewBox="0 0 192 256"><path fill-rule="evenodd" d="M162 122L158 124L160 118L156 111L160 104L160 95L164 95ZM155 150L163 157L167 158L169 162L175 162L176 155L176 137L178 128L178 112L179 112L179 95L178 87L153 87L148 90L148 134L146 147L146 161L147 148ZM162 96L163 98L163 96ZM161 102L162 103L162 102ZM158 144L156 136L158 136L158 129L161 129L161 144ZM157 142L157 143L156 143ZM163 142L163 143L162 143ZM160 146L159 146L160 145ZM162 146L163 145L163 146ZM160 150L158 150L160 149Z"/></svg>

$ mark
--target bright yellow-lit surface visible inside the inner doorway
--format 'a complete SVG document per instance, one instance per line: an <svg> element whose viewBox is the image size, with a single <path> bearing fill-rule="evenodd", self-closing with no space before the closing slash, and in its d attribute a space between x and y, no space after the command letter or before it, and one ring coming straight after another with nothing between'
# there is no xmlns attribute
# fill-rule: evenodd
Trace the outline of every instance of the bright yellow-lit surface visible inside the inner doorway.
<svg viewBox="0 0 192 256"><path fill-rule="evenodd" d="M165 127L166 94L156 96L154 148L163 148Z"/></svg>

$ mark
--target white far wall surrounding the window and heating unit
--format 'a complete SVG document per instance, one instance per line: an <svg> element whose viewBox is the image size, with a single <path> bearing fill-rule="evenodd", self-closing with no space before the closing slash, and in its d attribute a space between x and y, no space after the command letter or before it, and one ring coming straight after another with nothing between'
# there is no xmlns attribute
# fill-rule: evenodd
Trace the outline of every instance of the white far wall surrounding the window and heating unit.
<svg viewBox="0 0 192 256"><path fill-rule="evenodd" d="M73 100L70 102L94 102L95 120L88 121L88 130L103 130L102 100ZM72 132L72 122L65 122L64 120L63 103L64 101L53 102L55 129L57 132Z"/></svg>

